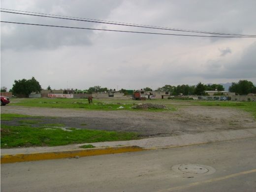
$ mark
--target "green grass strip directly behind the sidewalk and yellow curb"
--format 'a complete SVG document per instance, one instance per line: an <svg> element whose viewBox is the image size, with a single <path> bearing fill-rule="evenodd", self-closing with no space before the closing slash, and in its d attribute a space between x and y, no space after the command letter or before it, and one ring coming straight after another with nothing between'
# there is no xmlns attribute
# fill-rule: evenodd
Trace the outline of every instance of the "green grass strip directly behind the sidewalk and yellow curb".
<svg viewBox="0 0 256 192"><path fill-rule="evenodd" d="M72 129L72 131L64 131L60 128L45 129L31 128L30 126L1 125L1 148L14 148L19 146L59 146L74 143L131 139L138 139L138 134L133 132L90 129Z"/></svg>

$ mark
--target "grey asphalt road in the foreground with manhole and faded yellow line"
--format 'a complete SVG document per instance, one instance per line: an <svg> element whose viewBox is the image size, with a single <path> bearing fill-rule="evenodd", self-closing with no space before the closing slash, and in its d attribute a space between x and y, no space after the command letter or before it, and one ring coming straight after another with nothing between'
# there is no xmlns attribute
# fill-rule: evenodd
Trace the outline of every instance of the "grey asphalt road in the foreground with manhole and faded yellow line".
<svg viewBox="0 0 256 192"><path fill-rule="evenodd" d="M189 163L197 165L180 172L172 169L174 165ZM210 166L209 171L204 165ZM194 171L194 167L204 173L187 173ZM79 159L1 164L1 192L28 191L255 192L256 138Z"/></svg>

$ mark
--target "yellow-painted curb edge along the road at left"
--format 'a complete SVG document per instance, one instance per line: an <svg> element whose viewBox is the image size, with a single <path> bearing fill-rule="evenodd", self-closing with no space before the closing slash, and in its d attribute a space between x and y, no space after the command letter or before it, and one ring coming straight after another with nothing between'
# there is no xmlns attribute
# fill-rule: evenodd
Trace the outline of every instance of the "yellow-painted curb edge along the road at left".
<svg viewBox="0 0 256 192"><path fill-rule="evenodd" d="M69 150L61 152L45 152L45 153L33 153L33 154L15 154L15 155L2 155L1 163L11 163L11 162L22 162L22 161L33 161L33 160L53 160L61 158L74 158L76 156L96 156L105 154L116 154L116 153L127 153L127 152L137 152L144 151L138 146L123 146L123 147L106 147L97 149L79 149L79 150Z"/></svg>

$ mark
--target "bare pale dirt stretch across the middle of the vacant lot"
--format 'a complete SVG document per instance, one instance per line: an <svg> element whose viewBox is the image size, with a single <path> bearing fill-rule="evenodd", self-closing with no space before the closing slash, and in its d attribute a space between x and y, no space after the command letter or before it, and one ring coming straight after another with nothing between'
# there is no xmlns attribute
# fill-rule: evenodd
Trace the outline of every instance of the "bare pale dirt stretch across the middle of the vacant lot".
<svg viewBox="0 0 256 192"><path fill-rule="evenodd" d="M185 133L256 128L251 114L218 106L180 106L177 111L87 111L22 106L1 107L1 113L45 116L42 124L64 124L66 128L89 128L138 132L141 136L171 136ZM56 117L56 118L51 118ZM2 122L3 123L3 122ZM4 121L15 125L15 121Z"/></svg>

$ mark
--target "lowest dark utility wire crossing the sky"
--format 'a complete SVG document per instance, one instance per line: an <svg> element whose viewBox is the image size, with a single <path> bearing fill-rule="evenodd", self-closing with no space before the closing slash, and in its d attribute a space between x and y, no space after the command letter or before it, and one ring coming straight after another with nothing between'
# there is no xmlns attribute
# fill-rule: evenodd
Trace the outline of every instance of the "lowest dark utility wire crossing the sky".
<svg viewBox="0 0 256 192"><path fill-rule="evenodd" d="M209 35L193 35L193 34L172 34L172 33L159 33L159 32L134 32L134 31L121 31L121 30L104 30L96 28L79 28L79 27L68 27L68 26L56 26L56 25L42 25L42 24L32 24L32 23L20 23L20 22L10 22L1 21L1 23L12 23L12 24L23 24L32 26L44 26L44 27L57 27L57 28L69 28L69 29L81 29L81 30L97 30L97 31L108 31L108 32L130 32L130 33L142 33L142 34L160 34L160 35L175 35L175 36L193 36L193 37L221 37L221 38L255 38L256 36L209 36Z"/></svg>

